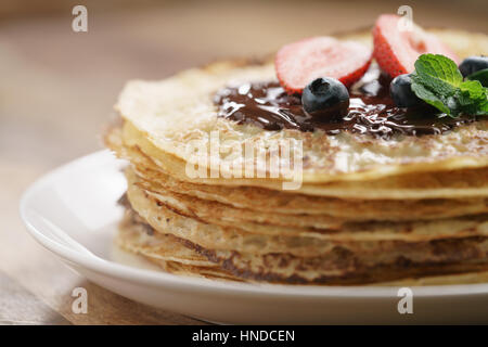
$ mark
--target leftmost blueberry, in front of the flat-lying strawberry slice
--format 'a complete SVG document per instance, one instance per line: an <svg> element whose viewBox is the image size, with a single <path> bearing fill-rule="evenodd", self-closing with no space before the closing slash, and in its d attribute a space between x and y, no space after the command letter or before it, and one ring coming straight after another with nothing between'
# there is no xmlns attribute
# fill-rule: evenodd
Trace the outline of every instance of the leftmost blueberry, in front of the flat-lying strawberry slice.
<svg viewBox="0 0 488 347"><path fill-rule="evenodd" d="M318 120L341 118L347 115L349 92L335 78L317 78L305 87L301 105L305 112Z"/></svg>

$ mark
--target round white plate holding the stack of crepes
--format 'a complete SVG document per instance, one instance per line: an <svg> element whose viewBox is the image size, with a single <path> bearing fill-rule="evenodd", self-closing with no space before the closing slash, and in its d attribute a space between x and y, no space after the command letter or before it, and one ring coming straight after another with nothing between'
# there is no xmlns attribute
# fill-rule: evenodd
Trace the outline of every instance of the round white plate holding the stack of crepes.
<svg viewBox="0 0 488 347"><path fill-rule="evenodd" d="M412 287L400 314L398 287L229 283L158 271L113 246L126 189L124 162L98 152L46 175L21 202L30 234L92 282L137 301L202 320L248 324L483 323L488 284Z"/></svg>

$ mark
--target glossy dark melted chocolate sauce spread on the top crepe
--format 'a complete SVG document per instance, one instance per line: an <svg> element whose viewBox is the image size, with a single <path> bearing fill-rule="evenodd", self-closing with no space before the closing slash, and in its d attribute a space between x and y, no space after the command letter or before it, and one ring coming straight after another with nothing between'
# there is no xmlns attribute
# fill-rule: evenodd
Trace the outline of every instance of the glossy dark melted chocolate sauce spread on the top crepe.
<svg viewBox="0 0 488 347"><path fill-rule="evenodd" d="M442 133L476 120L475 116L452 118L439 115L427 105L415 108L396 107L389 97L389 78L372 66L350 89L347 115L330 121L308 115L301 107L299 95L286 94L277 81L230 86L219 90L214 102L219 107L219 116L239 124L253 124L266 130L322 129L329 134L351 131L385 139L396 134Z"/></svg>

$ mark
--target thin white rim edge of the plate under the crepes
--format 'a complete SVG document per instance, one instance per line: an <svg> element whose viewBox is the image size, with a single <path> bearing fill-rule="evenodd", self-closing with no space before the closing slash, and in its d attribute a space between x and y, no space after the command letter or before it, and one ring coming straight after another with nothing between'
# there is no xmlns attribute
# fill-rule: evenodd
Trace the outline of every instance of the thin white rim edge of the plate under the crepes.
<svg viewBox="0 0 488 347"><path fill-rule="evenodd" d="M119 280L128 281L134 284L151 285L154 287L170 287L184 290L185 292L218 292L226 295L246 295L287 298L385 298L397 297L396 290L402 287L396 286L374 286L374 285L354 285L354 286L326 286L326 285L293 285L293 284L270 284L270 283L234 283L218 280L192 278L177 275L164 271L154 271L149 269L139 269L128 265L118 264L113 260L101 258L91 252L81 253L79 249L73 249L56 240L44 235L41 230L28 218L28 208L30 201L36 193L43 187L55 184L55 179L66 174L85 162L90 160L123 160L115 157L110 150L97 151L85 156L70 160L60 167L56 167L34 181L22 194L20 202L21 219L26 226L28 233L44 248L54 255L67 260L74 265L81 266L99 274L108 275ZM63 230L64 232L64 230ZM66 233L65 233L66 234ZM75 241L76 242L76 241ZM77 243L80 247L84 247ZM85 248L85 247L84 247ZM440 297L440 296L465 296L488 294L488 283L473 284L447 284L447 285L403 285L410 287L416 298L419 297Z"/></svg>

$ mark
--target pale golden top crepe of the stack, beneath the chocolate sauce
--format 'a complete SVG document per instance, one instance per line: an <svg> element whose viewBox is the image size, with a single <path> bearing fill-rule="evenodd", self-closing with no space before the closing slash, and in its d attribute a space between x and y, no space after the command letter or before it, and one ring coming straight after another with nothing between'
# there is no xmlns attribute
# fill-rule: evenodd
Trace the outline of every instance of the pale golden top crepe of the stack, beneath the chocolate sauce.
<svg viewBox="0 0 488 347"><path fill-rule="evenodd" d="M480 36L466 42L465 36L448 30L437 33L461 57L488 53L488 38ZM368 41L369 34L352 38ZM463 39L463 41L460 40ZM231 175L232 165L242 168L252 160L255 168L267 172L267 182L290 179L294 167L279 160L279 177L269 179L269 154L283 140L301 141L304 183L323 183L344 180L371 180L385 176L423 171L444 171L483 168L488 165L488 120L459 126L442 134L395 137L377 139L368 134L341 132L328 136L316 130L267 131L252 125L218 117L213 103L214 93L230 83L274 80L271 62L223 62L204 68L193 68L162 81L129 81L121 92L116 108L132 127L137 143L153 159L167 154L184 163L204 165L217 163L220 172ZM209 151L210 133L218 130L220 143L242 149L241 155ZM137 141L137 140L134 140ZM202 162L202 152L189 150L189 143L203 145L208 154ZM246 144L258 142L265 156L246 157ZM193 149L193 147L192 147ZM235 153L233 153L235 154ZM227 170L227 172L226 172ZM233 171L235 172L235 171ZM183 178L182 178L183 179ZM259 180L242 178L227 180L240 185L265 185Z"/></svg>

